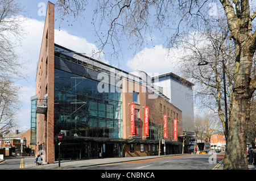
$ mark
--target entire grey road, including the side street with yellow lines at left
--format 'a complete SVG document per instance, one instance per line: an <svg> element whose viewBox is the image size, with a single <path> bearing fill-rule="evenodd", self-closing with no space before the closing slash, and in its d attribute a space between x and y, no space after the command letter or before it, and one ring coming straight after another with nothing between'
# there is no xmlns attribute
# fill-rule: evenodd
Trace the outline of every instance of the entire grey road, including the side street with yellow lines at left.
<svg viewBox="0 0 256 181"><path fill-rule="evenodd" d="M219 162L224 158L223 153L199 154L199 155L171 155L170 157L156 157L151 159L141 159L137 161L99 164L95 166L67 167L68 170L212 170L216 169ZM34 157L6 157L0 163L1 170L24 170L24 169L53 169L49 165L43 167L34 166ZM114 160L115 158L113 158ZM102 160L103 161L103 160ZM85 161L86 162L86 161ZM67 162L69 163L69 162ZM70 162L76 166L76 162ZM78 162L77 162L78 163ZM29 165L28 165L29 164ZM64 163L63 163L64 164ZM85 163L86 165L86 163ZM56 167L55 167L56 169Z"/></svg>

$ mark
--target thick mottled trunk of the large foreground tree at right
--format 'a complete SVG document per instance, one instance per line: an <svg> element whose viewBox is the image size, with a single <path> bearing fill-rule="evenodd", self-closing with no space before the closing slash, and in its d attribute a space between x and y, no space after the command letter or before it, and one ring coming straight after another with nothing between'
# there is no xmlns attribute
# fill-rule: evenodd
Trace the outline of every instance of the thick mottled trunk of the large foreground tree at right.
<svg viewBox="0 0 256 181"><path fill-rule="evenodd" d="M250 78L254 50L243 44L240 62L234 70L232 112L230 115L228 140L224 157L224 169L247 170L246 141L247 125L250 120L250 99L254 92L255 80ZM253 84L253 85L252 85Z"/></svg>

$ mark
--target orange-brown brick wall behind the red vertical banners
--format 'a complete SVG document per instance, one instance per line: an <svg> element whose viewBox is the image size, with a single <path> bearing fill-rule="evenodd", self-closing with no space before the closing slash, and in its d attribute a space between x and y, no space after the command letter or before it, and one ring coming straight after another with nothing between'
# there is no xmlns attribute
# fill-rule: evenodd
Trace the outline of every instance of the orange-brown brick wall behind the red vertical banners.
<svg viewBox="0 0 256 181"><path fill-rule="evenodd" d="M165 108L166 111L163 111L168 115L167 119L167 132L168 138L166 141L173 141L174 137L174 123L173 119L177 119L177 135L183 134L182 128L182 112L173 106L171 103L167 102L164 98L158 96L156 99L149 99L150 92L146 91L146 87L142 85L138 85L137 83L127 81L127 79L123 79L123 89L122 89L122 106L123 106L123 138L131 139L130 135L130 105L129 103L133 103L133 91L139 92L139 103L135 103L135 109L139 110L139 121L135 121L135 126L139 125L140 137L139 140L146 140L144 136L144 108L149 107L149 119L151 122L163 125L163 118L160 116L159 107L162 104L162 107ZM172 115L171 115L172 114ZM126 157L135 157L135 156L143 156L152 154L148 153L148 144L144 144L144 151L140 151L141 144L134 144L134 152L130 152L130 144L125 144L124 152ZM157 145L157 144L156 144ZM155 146L156 146L155 145ZM152 145L151 145L152 146ZM135 151L137 150L137 151ZM155 149L155 153L157 150Z"/></svg>

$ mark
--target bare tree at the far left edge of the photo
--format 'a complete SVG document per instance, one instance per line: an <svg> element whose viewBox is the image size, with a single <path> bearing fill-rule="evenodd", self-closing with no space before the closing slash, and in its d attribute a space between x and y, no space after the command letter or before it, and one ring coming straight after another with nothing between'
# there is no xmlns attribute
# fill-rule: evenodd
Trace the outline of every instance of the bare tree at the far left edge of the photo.
<svg viewBox="0 0 256 181"><path fill-rule="evenodd" d="M0 135L5 134L17 124L17 112L22 106L19 102L19 88L11 79L24 78L19 71L24 68L18 61L16 47L20 46L22 23L18 16L23 7L15 0L0 0Z"/></svg>

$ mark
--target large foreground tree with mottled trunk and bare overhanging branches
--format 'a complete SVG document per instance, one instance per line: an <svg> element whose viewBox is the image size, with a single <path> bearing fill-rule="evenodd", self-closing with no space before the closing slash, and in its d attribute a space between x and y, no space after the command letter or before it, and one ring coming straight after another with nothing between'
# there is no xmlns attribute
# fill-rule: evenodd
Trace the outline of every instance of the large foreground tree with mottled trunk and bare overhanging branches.
<svg viewBox="0 0 256 181"><path fill-rule="evenodd" d="M68 14L71 1L64 2ZM86 1L76 2L86 5ZM213 32L216 23L221 23L227 28L236 48L236 58L233 66L229 132L225 132L228 139L224 169L248 169L247 124L250 120L250 99L256 89L255 69L252 69L256 49L256 31L253 28L256 11L252 6L254 1L249 3L249 0L121 0L118 2L98 0L97 2L94 10L97 20L93 21L99 25L96 26L96 35L101 48L111 45L116 55L121 49L121 40L125 37L136 50L140 50L148 43L154 45L152 39L148 40L148 37L152 37L155 32L160 32L165 37L166 47L172 47L174 43L179 43L184 36L187 36L188 32ZM221 6L222 11L216 12L216 15L209 14L209 3L215 3L217 7ZM223 17L224 21L222 21ZM101 28L106 25L108 25L107 30L102 31Z"/></svg>

